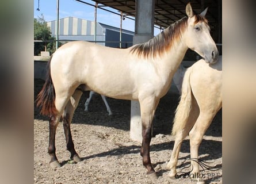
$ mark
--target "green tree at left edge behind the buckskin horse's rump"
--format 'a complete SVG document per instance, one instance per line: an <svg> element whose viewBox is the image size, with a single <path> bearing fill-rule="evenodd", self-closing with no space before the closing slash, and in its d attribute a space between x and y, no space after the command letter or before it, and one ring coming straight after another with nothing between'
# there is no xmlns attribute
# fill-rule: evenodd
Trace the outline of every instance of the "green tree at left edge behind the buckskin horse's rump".
<svg viewBox="0 0 256 184"><path fill-rule="evenodd" d="M50 55L55 52L55 37L51 36L51 30L47 26L43 14L34 18L34 40L42 40L43 42L34 42L34 55L40 55L41 51L47 48ZM52 41L51 41L52 40ZM51 41L51 42L49 42Z"/></svg>

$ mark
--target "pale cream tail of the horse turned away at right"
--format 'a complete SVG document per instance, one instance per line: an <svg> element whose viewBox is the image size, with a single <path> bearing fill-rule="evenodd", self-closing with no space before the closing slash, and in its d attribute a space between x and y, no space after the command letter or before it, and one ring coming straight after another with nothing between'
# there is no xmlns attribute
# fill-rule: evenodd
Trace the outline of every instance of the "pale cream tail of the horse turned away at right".
<svg viewBox="0 0 256 184"><path fill-rule="evenodd" d="M192 91L190 86L190 73L192 72L191 67L186 70L182 88L181 88L181 100L175 111L173 131L171 134L175 136L179 131L185 128L188 122L189 112L192 107Z"/></svg>

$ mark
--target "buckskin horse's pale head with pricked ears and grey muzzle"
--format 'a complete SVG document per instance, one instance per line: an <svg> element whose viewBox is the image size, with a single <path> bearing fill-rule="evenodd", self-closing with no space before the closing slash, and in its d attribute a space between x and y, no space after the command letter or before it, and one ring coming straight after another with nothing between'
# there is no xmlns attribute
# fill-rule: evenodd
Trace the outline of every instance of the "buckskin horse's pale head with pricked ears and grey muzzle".
<svg viewBox="0 0 256 184"><path fill-rule="evenodd" d="M219 52L211 37L210 28L205 18L207 9L202 11L201 14L194 14L190 3L186 5L188 29L185 34L185 42L190 49L204 57L205 62L215 63Z"/></svg>

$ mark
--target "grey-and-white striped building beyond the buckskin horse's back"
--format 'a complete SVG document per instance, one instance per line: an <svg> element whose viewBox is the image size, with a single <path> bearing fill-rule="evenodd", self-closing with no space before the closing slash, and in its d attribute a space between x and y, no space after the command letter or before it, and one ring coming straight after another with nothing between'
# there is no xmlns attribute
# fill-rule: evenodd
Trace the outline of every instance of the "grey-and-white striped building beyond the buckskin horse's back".
<svg viewBox="0 0 256 184"><path fill-rule="evenodd" d="M47 22L52 36L56 37L56 20ZM96 29L96 34L95 34ZM114 26L76 17L66 17L59 20L59 40L65 41L93 41L107 47L128 48L132 46L134 32L121 30Z"/></svg>

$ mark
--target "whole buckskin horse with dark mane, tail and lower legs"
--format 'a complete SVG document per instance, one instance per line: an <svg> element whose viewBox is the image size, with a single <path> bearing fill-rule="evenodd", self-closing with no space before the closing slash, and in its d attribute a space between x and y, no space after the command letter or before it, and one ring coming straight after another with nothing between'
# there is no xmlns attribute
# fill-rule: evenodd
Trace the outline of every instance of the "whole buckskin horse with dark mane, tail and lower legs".
<svg viewBox="0 0 256 184"><path fill-rule="evenodd" d="M62 117L67 150L81 161L74 148L70 124L82 91L107 97L138 100L142 119L143 165L154 173L150 160L152 118L159 100L170 89L171 79L188 48L215 63L218 51L205 19L207 9L194 14L190 3L181 20L143 44L127 49L104 47L86 41L62 45L48 62L48 76L37 97L41 114L49 116L51 167L60 167L55 154L55 131Z"/></svg>

